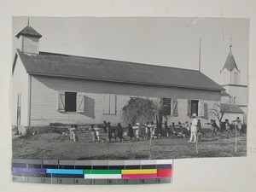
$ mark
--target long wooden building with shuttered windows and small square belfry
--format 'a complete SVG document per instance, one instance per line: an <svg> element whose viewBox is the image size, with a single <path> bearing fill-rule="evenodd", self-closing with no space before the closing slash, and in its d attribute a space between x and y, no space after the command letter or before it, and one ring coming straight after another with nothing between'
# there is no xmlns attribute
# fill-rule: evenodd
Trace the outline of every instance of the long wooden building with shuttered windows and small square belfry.
<svg viewBox="0 0 256 192"><path fill-rule="evenodd" d="M164 98L169 123L185 122L192 113L204 123L224 90L197 70L41 52L42 35L29 25L16 38L13 125L123 124L131 96Z"/></svg>

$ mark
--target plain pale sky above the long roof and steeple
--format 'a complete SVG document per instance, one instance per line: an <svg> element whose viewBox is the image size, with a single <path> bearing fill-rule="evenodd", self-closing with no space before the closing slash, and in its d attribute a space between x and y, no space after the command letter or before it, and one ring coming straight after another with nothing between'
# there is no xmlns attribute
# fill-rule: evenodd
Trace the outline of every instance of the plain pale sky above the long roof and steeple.
<svg viewBox="0 0 256 192"><path fill-rule="evenodd" d="M13 53L27 21L13 18ZM231 38L240 84L247 84L247 19L30 17L29 23L43 36L40 51L195 70L201 38L201 72L218 84Z"/></svg>

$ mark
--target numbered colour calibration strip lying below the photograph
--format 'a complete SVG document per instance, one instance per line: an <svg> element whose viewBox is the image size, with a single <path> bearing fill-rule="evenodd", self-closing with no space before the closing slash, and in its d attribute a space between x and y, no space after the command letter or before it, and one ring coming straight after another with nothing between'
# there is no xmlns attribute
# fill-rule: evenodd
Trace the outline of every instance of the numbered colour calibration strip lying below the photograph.
<svg viewBox="0 0 256 192"><path fill-rule="evenodd" d="M12 160L14 182L53 184L171 183L172 160Z"/></svg>

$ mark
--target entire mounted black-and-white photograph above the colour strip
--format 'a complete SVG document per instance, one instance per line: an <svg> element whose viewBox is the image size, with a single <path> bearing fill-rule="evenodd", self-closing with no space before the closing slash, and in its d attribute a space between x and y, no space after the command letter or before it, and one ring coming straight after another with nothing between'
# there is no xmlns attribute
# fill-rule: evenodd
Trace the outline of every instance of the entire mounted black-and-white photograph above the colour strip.
<svg viewBox="0 0 256 192"><path fill-rule="evenodd" d="M247 155L249 20L13 17L12 155Z"/></svg>

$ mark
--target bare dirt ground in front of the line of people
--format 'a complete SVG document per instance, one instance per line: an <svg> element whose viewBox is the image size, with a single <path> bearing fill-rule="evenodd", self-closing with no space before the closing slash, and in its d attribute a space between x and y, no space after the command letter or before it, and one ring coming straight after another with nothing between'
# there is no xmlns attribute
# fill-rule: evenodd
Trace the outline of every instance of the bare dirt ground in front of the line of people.
<svg viewBox="0 0 256 192"><path fill-rule="evenodd" d="M103 138L106 133L101 134ZM135 141L125 137L127 141L119 143L92 143L90 131L79 133L80 142L69 140L69 135L58 133L36 134L29 137L13 137L13 158L43 160L148 160L148 159L182 159L196 157L234 157L247 154L247 137L241 134L237 138L235 153L235 137L226 138L226 133L218 133L216 138L201 137L198 142L198 154L195 143L188 143L189 138L161 138ZM145 137L144 137L145 138Z"/></svg>

